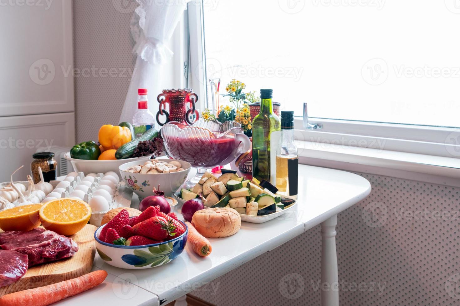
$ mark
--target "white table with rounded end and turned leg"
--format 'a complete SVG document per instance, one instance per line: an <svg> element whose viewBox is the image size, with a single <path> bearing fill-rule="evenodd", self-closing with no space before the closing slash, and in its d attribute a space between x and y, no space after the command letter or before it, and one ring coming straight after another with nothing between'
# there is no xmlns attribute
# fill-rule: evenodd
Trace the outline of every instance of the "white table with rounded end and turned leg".
<svg viewBox="0 0 460 306"><path fill-rule="evenodd" d="M193 175L192 170L189 177ZM322 228L322 284L334 288L339 281L335 248L337 214L367 197L370 190L369 182L356 174L299 165L298 203L284 215L265 223L242 222L236 234L209 239L213 246L210 256L200 257L186 246L180 256L160 267L121 269L110 266L96 253L93 270L104 269L109 273L104 283L58 305L156 306L176 300L176 306L184 306L187 293L206 286L213 290L215 278L318 224ZM133 195L132 207L138 203L138 197ZM338 306L339 291L322 290L322 305Z"/></svg>

